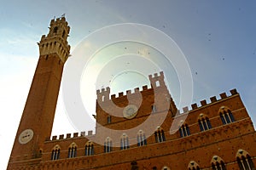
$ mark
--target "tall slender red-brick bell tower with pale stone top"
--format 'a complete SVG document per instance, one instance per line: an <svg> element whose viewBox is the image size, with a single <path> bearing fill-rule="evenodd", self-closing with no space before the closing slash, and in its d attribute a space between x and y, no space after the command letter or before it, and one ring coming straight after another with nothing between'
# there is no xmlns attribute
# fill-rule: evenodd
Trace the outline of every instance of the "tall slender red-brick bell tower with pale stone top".
<svg viewBox="0 0 256 170"><path fill-rule="evenodd" d="M51 20L48 35L43 35L38 42L38 65L20 119L8 169L15 169L17 162L26 165L40 160L44 141L52 130L63 66L69 56L69 31L64 17Z"/></svg>

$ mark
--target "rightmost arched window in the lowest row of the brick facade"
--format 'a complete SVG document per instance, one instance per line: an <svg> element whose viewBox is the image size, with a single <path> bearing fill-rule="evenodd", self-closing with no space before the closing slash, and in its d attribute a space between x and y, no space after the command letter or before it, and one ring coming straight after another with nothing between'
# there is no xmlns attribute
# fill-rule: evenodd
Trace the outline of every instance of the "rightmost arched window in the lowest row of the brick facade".
<svg viewBox="0 0 256 170"><path fill-rule="evenodd" d="M238 150L236 153L236 161L240 170L255 169L251 156L245 150Z"/></svg>

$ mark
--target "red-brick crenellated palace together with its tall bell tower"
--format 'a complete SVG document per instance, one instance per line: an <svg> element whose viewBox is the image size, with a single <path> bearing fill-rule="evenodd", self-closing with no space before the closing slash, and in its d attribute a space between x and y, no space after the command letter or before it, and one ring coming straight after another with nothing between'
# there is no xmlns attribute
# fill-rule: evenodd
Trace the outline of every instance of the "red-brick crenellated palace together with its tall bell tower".
<svg viewBox="0 0 256 170"><path fill-rule="evenodd" d="M151 87L142 91L110 96L110 88L97 90L95 134L50 138L68 32L65 18L52 20L38 44L8 169L255 169L256 133L236 89L180 112L163 72L149 75Z"/></svg>

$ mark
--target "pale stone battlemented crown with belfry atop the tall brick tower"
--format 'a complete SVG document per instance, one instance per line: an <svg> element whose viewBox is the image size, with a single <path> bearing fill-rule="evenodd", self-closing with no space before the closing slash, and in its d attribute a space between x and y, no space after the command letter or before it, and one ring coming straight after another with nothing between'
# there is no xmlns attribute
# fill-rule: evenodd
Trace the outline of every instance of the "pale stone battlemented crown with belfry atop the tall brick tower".
<svg viewBox="0 0 256 170"><path fill-rule="evenodd" d="M56 54L65 63L70 52L70 45L67 42L69 31L70 26L65 17L51 20L48 35L43 35L38 43L40 55Z"/></svg>

